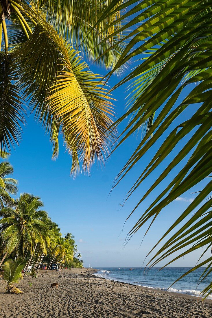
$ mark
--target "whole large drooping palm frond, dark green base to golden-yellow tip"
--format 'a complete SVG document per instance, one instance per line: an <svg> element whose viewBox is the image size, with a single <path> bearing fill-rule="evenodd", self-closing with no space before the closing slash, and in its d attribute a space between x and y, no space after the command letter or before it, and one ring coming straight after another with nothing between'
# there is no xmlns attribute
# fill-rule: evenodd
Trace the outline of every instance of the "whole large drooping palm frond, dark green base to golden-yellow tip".
<svg viewBox="0 0 212 318"><path fill-rule="evenodd" d="M98 84L101 77L90 72L77 52L45 22L36 26L20 52L17 64L22 88L50 131L53 156L58 155L61 132L72 154L72 171L78 170L79 159L83 170L89 170L94 159L101 159L107 151L105 131L112 124L112 99Z"/></svg>

